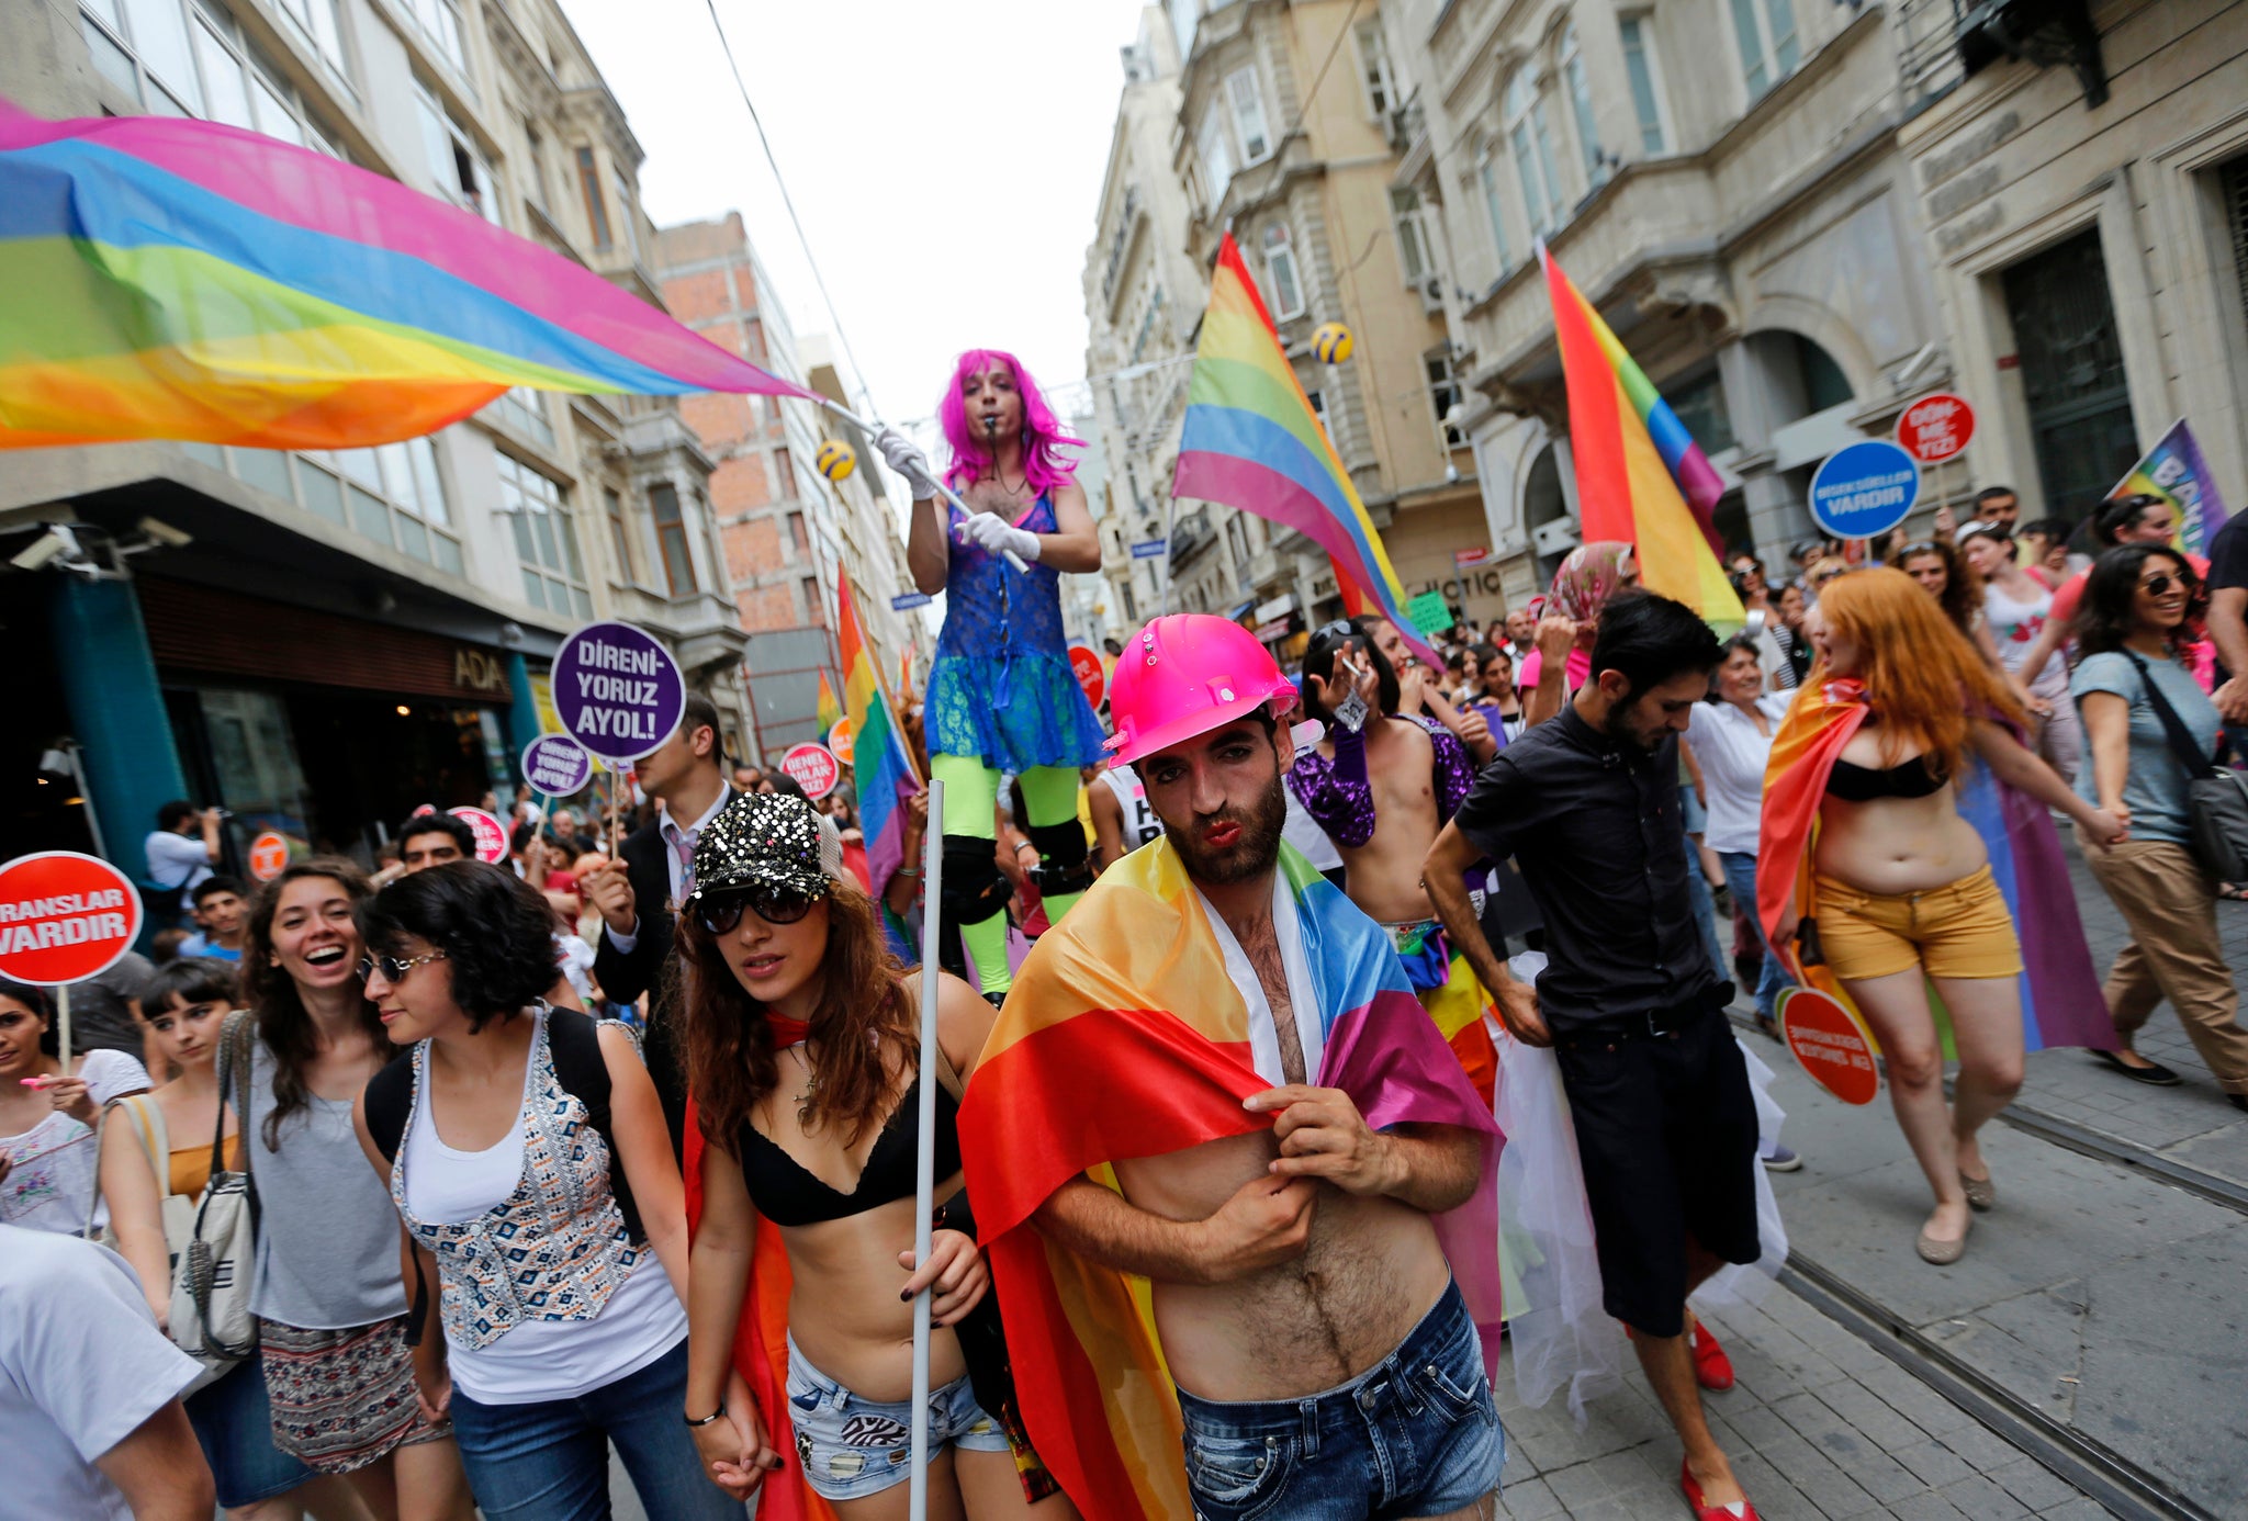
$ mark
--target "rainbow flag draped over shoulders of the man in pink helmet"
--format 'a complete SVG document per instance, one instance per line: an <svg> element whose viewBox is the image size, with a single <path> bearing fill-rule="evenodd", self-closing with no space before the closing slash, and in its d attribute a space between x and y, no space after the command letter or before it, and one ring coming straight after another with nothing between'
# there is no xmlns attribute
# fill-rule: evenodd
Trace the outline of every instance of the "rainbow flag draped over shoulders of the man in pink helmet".
<svg viewBox="0 0 2248 1521"><path fill-rule="evenodd" d="M1317 1083L1376 1128L1459 1126L1486 1137L1484 1182L1436 1229L1497 1352L1497 1126L1436 1024L1414 1002L1389 937L1288 845L1324 1031ZM998 1015L960 1110L960 1153L998 1285L1021 1409L1039 1456L1090 1521L1189 1517L1178 1397L1144 1278L1048 1242L1036 1211L1079 1173L1270 1126L1241 1108L1268 1090L1250 1015L1207 908L1169 840L1102 872L1039 939Z"/></svg>

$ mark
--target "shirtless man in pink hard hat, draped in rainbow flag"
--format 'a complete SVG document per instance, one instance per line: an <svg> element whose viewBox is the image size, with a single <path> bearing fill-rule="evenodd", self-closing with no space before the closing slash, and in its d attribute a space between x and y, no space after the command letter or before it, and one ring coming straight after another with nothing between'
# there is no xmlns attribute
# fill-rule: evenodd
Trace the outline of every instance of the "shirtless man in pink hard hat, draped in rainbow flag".
<svg viewBox="0 0 2248 1521"><path fill-rule="evenodd" d="M1223 618L1133 636L1111 746L1164 836L1032 950L960 1110L1021 1404L1095 1521L1445 1517L1499 1481L1497 1128L1281 845L1293 699Z"/></svg>

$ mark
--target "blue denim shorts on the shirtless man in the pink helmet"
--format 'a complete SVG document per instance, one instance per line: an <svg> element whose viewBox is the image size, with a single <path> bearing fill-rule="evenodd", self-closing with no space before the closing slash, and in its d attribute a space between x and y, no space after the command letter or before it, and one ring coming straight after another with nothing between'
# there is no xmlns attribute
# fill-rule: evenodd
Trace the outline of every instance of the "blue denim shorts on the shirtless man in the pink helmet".
<svg viewBox="0 0 2248 1521"><path fill-rule="evenodd" d="M1349 1384L1243 1402L1180 1388L1178 1413L1198 1521L1443 1517L1497 1494L1506 1465L1459 1285Z"/></svg>

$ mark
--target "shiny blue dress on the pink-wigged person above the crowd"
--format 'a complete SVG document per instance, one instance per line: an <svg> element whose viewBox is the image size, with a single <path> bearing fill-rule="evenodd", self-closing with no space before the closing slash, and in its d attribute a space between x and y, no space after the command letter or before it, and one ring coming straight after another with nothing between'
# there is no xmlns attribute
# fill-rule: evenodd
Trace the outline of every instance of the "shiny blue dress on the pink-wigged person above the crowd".
<svg viewBox="0 0 2248 1521"><path fill-rule="evenodd" d="M951 521L960 523L958 508ZM1014 526L1054 532L1052 499L1039 497ZM994 771L1102 759L1102 721L1061 636L1059 571L1032 562L1025 575L1003 555L953 541L926 723L931 755L973 757Z"/></svg>

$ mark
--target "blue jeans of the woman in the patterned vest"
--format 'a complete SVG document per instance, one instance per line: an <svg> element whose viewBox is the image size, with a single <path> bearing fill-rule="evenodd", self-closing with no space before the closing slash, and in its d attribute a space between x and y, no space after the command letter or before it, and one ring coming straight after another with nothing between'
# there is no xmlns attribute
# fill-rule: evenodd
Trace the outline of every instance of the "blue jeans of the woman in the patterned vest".
<svg viewBox="0 0 2248 1521"><path fill-rule="evenodd" d="M742 1503L704 1476L681 1413L688 1344L575 1400L477 1404L452 1391L452 1433L488 1521L609 1521L609 1442L641 1510L683 1521L742 1521Z"/></svg>

